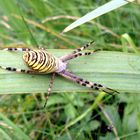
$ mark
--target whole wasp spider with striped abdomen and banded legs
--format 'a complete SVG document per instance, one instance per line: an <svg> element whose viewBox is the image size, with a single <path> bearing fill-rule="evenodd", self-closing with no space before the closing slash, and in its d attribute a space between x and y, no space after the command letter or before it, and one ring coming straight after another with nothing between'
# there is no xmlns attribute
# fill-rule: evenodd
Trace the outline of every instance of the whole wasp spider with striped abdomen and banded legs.
<svg viewBox="0 0 140 140"><path fill-rule="evenodd" d="M46 103L51 93L51 88L53 85L55 73L88 88L104 91L110 94L115 93L115 92L118 93L116 90L105 87L98 83L87 81L66 70L68 60L74 59L80 56L84 56L84 55L91 55L95 52L95 51L83 52L83 53L81 52L82 50L89 47L92 43L93 41L90 43L87 43L86 45L84 45L83 47L79 49L74 50L72 53L64 55L60 58L53 56L52 54L48 53L44 49L32 50L29 48L5 48L4 50L7 50L7 51L24 51L25 53L23 54L23 60L25 61L26 65L30 69L24 70L24 69L12 68L12 67L4 67L4 66L0 66L0 67L8 71L15 71L15 72L20 72L20 73L29 73L29 74L53 73L50 84L49 84L49 88L48 88Z"/></svg>

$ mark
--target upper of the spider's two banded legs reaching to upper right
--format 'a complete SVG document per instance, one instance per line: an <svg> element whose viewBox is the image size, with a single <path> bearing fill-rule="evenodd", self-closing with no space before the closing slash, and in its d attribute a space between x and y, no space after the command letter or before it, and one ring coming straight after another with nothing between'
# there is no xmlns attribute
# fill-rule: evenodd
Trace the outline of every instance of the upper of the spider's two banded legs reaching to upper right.
<svg viewBox="0 0 140 140"><path fill-rule="evenodd" d="M76 54L76 53L78 53L78 52L80 52L80 51L82 51L82 50L88 48L88 47L89 47L91 44L93 44L93 43L94 43L94 41L91 41L91 42L85 44L83 47L74 50L72 53L66 54L66 55L60 57L60 59L61 59L63 62L66 61L66 60L69 60L69 57L73 56L73 54Z"/></svg>

